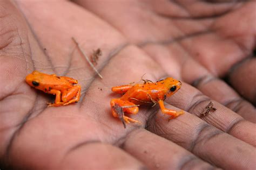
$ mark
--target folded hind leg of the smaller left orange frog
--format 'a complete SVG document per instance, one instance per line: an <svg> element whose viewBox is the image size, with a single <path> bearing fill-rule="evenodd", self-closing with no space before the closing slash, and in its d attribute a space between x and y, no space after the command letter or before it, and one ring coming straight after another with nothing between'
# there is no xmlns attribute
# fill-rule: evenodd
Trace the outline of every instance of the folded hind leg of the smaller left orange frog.
<svg viewBox="0 0 256 170"><path fill-rule="evenodd" d="M79 85L73 86L72 88L63 91L62 101L63 105L78 102L80 99L81 87ZM74 98L75 97L75 98Z"/></svg>

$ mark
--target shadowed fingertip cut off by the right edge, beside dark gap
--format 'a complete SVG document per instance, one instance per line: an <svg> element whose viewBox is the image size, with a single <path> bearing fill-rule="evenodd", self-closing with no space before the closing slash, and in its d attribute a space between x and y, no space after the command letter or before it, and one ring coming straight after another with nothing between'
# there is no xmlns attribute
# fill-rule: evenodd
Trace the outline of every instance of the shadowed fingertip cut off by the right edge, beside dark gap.
<svg viewBox="0 0 256 170"><path fill-rule="evenodd" d="M256 59L251 58L231 69L230 83L239 94L256 105Z"/></svg>

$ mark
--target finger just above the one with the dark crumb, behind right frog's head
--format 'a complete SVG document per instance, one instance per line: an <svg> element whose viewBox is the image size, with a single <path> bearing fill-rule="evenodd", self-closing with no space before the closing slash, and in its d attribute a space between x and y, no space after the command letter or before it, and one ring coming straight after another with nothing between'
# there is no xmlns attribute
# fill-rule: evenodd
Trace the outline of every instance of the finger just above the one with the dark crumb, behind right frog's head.
<svg viewBox="0 0 256 170"><path fill-rule="evenodd" d="M146 45L143 49L165 69L167 74L175 75L178 79L193 84L205 95L237 112L248 121L256 121L253 105L241 98L225 82L214 78L206 68L191 59L180 45ZM177 70L180 74L177 74Z"/></svg>

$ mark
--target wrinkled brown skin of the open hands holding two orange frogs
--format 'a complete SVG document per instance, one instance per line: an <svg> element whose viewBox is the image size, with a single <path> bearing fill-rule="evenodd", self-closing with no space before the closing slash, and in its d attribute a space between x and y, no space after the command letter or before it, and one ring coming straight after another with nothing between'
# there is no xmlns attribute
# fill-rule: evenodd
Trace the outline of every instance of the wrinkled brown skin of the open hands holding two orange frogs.
<svg viewBox="0 0 256 170"><path fill-rule="evenodd" d="M119 3L118 3L119 2ZM0 168L255 169L254 1L0 1ZM71 40L91 55L101 80ZM82 85L76 104L29 87L32 70ZM171 76L183 87L123 128L111 87ZM224 79L225 78L225 79ZM100 88L102 90L100 90ZM215 112L200 118L213 101ZM254 104L254 105L253 105Z"/></svg>

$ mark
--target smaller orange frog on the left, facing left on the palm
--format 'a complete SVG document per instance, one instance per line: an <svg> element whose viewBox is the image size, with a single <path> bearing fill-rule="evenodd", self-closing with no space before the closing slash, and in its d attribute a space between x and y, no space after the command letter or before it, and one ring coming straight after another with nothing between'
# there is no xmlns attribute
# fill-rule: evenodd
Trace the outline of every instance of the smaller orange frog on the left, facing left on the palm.
<svg viewBox="0 0 256 170"><path fill-rule="evenodd" d="M55 103L47 103L48 107L78 102L80 98L81 87L79 85L74 86L78 81L70 77L49 75L35 70L26 76L26 83L44 91L44 93L56 95Z"/></svg>

